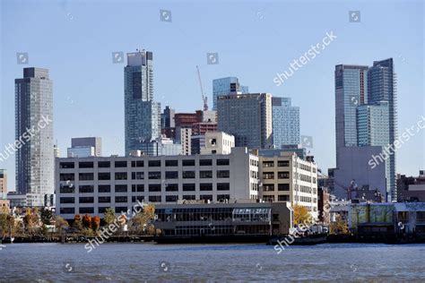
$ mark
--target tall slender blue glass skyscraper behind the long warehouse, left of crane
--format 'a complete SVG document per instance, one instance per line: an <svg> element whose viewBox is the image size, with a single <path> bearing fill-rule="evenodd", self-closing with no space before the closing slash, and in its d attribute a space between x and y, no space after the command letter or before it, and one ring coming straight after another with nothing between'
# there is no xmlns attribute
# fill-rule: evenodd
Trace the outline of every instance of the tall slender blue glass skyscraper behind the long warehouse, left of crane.
<svg viewBox="0 0 425 283"><path fill-rule="evenodd" d="M124 70L126 155L160 138L160 103L153 101L152 52L127 54Z"/></svg>

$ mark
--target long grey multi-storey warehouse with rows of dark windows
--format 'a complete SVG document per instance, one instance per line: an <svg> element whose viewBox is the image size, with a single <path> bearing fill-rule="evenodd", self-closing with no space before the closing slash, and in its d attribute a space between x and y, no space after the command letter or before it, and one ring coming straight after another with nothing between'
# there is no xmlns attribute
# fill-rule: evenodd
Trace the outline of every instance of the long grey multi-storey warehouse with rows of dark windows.
<svg viewBox="0 0 425 283"><path fill-rule="evenodd" d="M256 200L258 157L246 148L228 155L56 159L56 212L103 216L137 202Z"/></svg>

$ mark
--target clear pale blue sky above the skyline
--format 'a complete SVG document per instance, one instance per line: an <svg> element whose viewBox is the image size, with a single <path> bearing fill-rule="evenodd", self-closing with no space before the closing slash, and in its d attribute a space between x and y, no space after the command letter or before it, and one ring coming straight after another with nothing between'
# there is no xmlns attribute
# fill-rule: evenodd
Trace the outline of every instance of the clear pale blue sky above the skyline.
<svg viewBox="0 0 425 283"><path fill-rule="evenodd" d="M200 4L202 3L202 4ZM235 75L251 92L291 97L301 133L314 139L322 169L334 167L334 65L394 57L399 132L424 108L422 1L1 1L1 150L14 141L14 79L27 66L54 81L55 137L62 156L72 137L100 136L104 155L124 154L124 64L111 52L153 52L155 99L180 112L202 107L196 65L212 101L212 79ZM160 21L160 9L172 22ZM360 10L360 23L349 11ZM327 31L337 39L282 86L273 78ZM206 64L218 52L219 64ZM210 103L212 105L212 103ZM398 151L397 172L425 169L425 130ZM0 167L14 188L14 158Z"/></svg>

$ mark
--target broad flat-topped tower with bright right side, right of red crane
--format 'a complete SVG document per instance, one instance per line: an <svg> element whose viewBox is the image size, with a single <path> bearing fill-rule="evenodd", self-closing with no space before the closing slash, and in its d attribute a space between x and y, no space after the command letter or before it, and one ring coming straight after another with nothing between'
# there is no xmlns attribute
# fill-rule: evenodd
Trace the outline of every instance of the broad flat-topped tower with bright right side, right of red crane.
<svg viewBox="0 0 425 283"><path fill-rule="evenodd" d="M235 136L237 147L272 145L272 95L250 93L219 97L218 130Z"/></svg>

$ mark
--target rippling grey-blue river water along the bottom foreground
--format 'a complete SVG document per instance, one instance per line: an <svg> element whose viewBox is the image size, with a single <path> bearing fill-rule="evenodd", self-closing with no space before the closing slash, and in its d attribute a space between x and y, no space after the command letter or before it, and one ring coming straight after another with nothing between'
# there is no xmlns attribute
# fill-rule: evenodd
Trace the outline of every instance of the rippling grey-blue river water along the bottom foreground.
<svg viewBox="0 0 425 283"><path fill-rule="evenodd" d="M5 244L0 281L420 282L424 260L425 244Z"/></svg>

